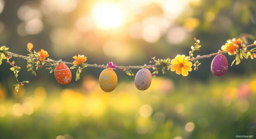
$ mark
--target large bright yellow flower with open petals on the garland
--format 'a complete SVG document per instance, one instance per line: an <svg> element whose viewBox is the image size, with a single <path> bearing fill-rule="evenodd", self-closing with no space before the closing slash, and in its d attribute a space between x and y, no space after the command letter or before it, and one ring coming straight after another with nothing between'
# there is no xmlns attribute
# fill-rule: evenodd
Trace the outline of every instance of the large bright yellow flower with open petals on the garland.
<svg viewBox="0 0 256 139"><path fill-rule="evenodd" d="M176 71L176 74L183 76L188 75L188 71L192 71L192 62L189 61L189 57L185 55L177 55L174 59L171 60L171 71Z"/></svg>

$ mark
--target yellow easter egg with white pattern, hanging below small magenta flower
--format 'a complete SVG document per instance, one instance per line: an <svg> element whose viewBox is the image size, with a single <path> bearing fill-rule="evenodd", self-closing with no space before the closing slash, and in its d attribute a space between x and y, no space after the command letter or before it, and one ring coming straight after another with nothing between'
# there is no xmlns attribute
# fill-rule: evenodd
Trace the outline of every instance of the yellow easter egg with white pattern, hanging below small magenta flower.
<svg viewBox="0 0 256 139"><path fill-rule="evenodd" d="M103 70L99 78L100 88L105 92L111 92L116 88L117 75L114 70L107 68Z"/></svg>

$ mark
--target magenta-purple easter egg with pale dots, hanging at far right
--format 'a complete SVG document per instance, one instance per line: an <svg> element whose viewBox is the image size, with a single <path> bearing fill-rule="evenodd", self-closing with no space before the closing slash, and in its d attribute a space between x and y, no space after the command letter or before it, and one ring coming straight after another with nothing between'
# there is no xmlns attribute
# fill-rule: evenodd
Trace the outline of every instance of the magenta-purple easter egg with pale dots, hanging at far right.
<svg viewBox="0 0 256 139"><path fill-rule="evenodd" d="M228 71L228 60L222 55L218 54L211 62L211 72L215 76L222 76Z"/></svg>

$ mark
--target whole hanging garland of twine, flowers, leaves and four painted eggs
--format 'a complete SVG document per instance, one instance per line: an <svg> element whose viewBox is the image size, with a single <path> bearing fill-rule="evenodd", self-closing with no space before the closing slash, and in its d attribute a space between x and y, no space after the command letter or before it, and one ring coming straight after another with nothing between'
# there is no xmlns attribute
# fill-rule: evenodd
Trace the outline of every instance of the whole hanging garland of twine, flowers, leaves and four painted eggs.
<svg viewBox="0 0 256 139"><path fill-rule="evenodd" d="M199 56L197 55L194 57L194 52L199 51L201 48L200 41L197 38L194 38L195 43L191 46L191 51L189 52L189 56L185 55L177 55L175 58L170 59L157 59L156 57L152 58L152 61L149 61L149 64L154 65L143 65L143 66L116 66L113 62L109 62L107 65L97 65L97 64L87 64L85 63L87 57L84 55L73 56L73 63L69 62L62 62L62 60L56 61L52 60L49 57L47 51L41 49L40 51L32 51L33 44L27 44L28 54L27 56L22 56L19 54L15 54L9 52L9 48L5 46L0 47L0 65L2 64L2 60L7 60L7 63L11 65L10 70L13 71L14 76L17 80L17 83L14 85L15 90L18 91L19 87L24 86L25 83L29 83L29 81L19 81L18 80L18 73L21 70L21 67L15 65L15 62L10 62L9 60L14 57L19 57L27 60L27 71L31 71L31 73L36 76L36 70L42 68L43 66L47 67L46 69L50 70L50 73L54 72L55 79L59 84L66 85L71 82L72 75L70 69L77 69L76 71L76 81L80 79L80 73L86 67L100 67L106 68L100 74L99 83L100 87L105 92L113 91L118 82L118 78L114 70L119 68L126 72L129 76L134 76L131 69L141 69L137 72L135 76L135 86L139 90L147 90L151 84L152 75L156 77L156 74L161 71L165 74L166 69L171 70L172 72L176 72L178 75L187 76L188 72L192 71L192 66L194 70L198 69L198 66L201 64L199 63L199 59L202 58L209 58L211 56L215 56L211 63L211 72L215 76L222 76L228 71L228 60L223 55L223 53L228 53L229 55L235 55L235 59L233 60L231 66L233 64L238 65L243 58L256 58L256 48L247 50L247 48L251 46L256 46L256 41L253 44L245 45L241 39L229 39L225 45L221 47L222 51L218 51L217 53L211 53L209 55ZM47 59L46 59L47 58ZM68 67L67 65L73 65L72 67ZM154 71L153 73L150 72L150 69Z"/></svg>

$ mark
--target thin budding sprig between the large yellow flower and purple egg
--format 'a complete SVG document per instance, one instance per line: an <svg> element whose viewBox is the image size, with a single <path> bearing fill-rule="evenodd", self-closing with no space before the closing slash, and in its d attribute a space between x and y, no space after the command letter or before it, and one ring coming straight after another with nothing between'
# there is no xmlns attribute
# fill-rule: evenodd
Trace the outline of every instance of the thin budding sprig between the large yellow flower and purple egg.
<svg viewBox="0 0 256 139"><path fill-rule="evenodd" d="M194 37L194 41L195 41L194 46L190 47L191 48L191 51L189 52L189 54L190 54L189 58L190 59L195 58L194 57L194 52L199 51L200 48L201 48L200 40L197 39L196 37ZM197 70L198 66L201 65L201 63L199 63L198 60L191 60L191 61L193 62L194 70Z"/></svg>

